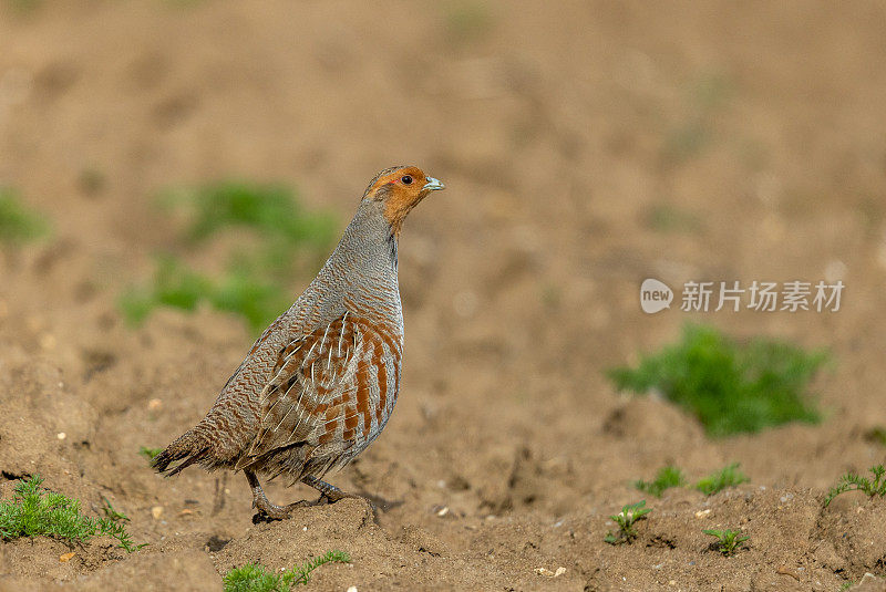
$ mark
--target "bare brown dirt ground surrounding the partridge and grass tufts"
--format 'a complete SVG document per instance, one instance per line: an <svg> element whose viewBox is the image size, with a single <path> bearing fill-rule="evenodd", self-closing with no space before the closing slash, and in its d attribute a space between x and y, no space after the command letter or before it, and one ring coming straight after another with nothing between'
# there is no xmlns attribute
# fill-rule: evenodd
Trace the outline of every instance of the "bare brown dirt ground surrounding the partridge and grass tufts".
<svg viewBox="0 0 886 592"><path fill-rule="evenodd" d="M886 577L884 500L823 508L841 474L886 460L866 437L886 425L884 55L877 1L0 1L0 185L53 227L0 253L0 496L40 472L87 512L106 497L150 543L0 543L0 589L218 590L233 567L329 549L352 563L320 568L313 590ZM282 180L343 227L400 163L447 190L401 239L396 411L331 477L378 511L347 500L254 526L243 476L153 474L140 447L196 423L255 339L208 309L123 322L120 294L176 240L156 191ZM645 278L846 290L838 312L648 315ZM604 371L687 321L828 347L825 419L712 440L616 393ZM604 542L646 497L633 479L733 460L749 484L648 498L639 539ZM705 528L741 528L749 547L721 557Z"/></svg>

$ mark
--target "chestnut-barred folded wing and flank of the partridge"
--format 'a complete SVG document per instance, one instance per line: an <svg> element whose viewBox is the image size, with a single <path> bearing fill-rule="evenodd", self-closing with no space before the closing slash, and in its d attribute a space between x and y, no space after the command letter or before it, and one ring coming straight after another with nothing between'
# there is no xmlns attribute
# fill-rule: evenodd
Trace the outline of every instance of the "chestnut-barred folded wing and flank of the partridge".
<svg viewBox="0 0 886 592"><path fill-rule="evenodd" d="M341 454L369 438L379 404L387 407L388 344L387 332L350 313L288 343L262 391L261 427L243 464L297 444Z"/></svg>

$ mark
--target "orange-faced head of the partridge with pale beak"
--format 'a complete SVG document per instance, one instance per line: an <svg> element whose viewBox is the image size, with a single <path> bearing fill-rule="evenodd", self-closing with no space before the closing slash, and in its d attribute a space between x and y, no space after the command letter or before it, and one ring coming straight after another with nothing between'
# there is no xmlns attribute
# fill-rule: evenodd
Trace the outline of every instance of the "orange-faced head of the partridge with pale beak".
<svg viewBox="0 0 886 592"><path fill-rule="evenodd" d="M410 210L427 194L443 188L442 183L426 176L416 166L395 166L375 175L363 194L363 200L378 204L393 235L399 236Z"/></svg>

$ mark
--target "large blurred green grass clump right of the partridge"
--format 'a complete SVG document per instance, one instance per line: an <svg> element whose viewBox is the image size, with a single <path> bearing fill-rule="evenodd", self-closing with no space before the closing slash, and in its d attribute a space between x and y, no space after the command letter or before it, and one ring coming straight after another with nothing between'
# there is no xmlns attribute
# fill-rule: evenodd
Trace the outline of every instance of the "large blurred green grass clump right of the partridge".
<svg viewBox="0 0 886 592"><path fill-rule="evenodd" d="M679 343L643 356L636 368L607 374L619 391L659 391L698 417L709 435L728 436L817 423L821 415L804 391L826 360L823 351L762 337L739 344L713 328L690 324Z"/></svg>

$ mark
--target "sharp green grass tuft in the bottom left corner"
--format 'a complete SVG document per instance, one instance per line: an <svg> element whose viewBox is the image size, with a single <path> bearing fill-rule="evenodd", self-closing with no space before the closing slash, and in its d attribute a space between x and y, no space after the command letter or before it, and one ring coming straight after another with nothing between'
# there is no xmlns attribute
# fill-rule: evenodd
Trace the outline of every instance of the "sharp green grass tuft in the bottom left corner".
<svg viewBox="0 0 886 592"><path fill-rule="evenodd" d="M39 475L20 480L12 500L0 501L0 539L42 536L82 542L93 537L111 537L127 553L146 544L133 544L125 526L130 519L106 499L104 518L90 518L80 511L79 500L41 490L42 482Z"/></svg>

